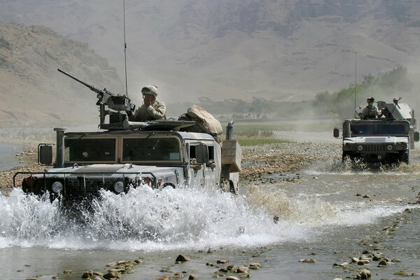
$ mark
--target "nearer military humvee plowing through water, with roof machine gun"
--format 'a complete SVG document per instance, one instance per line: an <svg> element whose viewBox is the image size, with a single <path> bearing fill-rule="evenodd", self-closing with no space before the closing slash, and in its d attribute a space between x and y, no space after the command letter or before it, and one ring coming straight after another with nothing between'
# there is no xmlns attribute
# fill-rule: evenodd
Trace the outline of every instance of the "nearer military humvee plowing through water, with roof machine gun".
<svg viewBox="0 0 420 280"><path fill-rule="evenodd" d="M104 131L66 133L55 128L54 167L45 172L18 172L14 185L19 176L25 176L25 193L48 192L50 200L60 197L70 201L95 197L99 190L120 194L140 187L185 186L238 193L241 148L232 139L233 122L221 145L210 134L183 131L195 125L194 121L129 122L122 113L134 110L127 96L95 87L94 91L99 92L99 127ZM38 163L52 164L52 144L38 146Z"/></svg>

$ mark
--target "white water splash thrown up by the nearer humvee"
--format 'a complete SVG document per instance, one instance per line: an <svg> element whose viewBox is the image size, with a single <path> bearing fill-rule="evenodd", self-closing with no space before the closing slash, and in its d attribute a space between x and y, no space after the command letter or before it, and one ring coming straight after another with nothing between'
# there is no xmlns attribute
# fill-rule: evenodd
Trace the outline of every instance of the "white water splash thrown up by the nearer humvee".
<svg viewBox="0 0 420 280"><path fill-rule="evenodd" d="M103 191L88 209L64 209L48 195L15 189L0 195L0 248L166 250L205 246L260 246L306 238L287 223L274 223L244 197L194 188L137 188L125 195Z"/></svg>

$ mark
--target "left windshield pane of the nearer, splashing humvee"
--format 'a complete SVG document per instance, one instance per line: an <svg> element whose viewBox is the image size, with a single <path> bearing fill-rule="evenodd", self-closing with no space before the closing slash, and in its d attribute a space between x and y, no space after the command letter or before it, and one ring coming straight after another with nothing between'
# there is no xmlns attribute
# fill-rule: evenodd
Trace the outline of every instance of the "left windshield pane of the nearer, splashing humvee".
<svg viewBox="0 0 420 280"><path fill-rule="evenodd" d="M66 162L113 162L116 139L66 139Z"/></svg>

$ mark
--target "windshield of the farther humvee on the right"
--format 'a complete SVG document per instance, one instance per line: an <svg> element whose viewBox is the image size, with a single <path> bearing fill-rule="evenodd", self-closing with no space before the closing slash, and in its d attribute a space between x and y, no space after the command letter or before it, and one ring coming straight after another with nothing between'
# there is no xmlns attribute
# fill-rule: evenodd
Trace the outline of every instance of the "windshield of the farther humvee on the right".
<svg viewBox="0 0 420 280"><path fill-rule="evenodd" d="M354 124L351 125L351 136L368 136L368 135L379 135L379 136L398 136L405 135L405 129L403 124L388 125L388 124Z"/></svg>

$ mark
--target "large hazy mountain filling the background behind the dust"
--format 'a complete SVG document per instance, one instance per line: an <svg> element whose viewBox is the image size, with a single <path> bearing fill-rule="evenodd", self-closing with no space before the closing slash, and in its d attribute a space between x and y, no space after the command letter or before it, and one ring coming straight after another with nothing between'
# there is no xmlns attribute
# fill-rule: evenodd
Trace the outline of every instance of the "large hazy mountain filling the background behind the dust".
<svg viewBox="0 0 420 280"><path fill-rule="evenodd" d="M0 0L0 20L87 42L125 75L130 97L313 98L403 64L418 72L416 0ZM123 80L123 78L121 78ZM124 87L117 90L122 92Z"/></svg>

